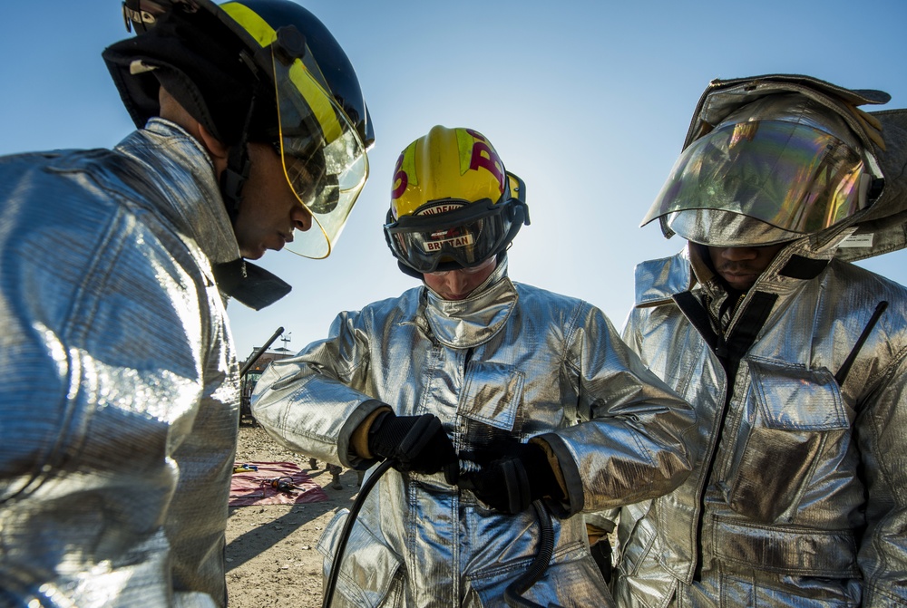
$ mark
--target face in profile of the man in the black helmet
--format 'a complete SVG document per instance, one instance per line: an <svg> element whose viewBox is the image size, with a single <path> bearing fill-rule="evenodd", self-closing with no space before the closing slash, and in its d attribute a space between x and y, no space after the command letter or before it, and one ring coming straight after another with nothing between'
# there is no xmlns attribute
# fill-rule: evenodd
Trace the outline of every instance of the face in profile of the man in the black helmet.
<svg viewBox="0 0 907 608"><path fill-rule="evenodd" d="M278 153L268 144L249 143L249 179L234 226L239 253L257 260L265 251L282 249L293 230L308 230L312 216L299 204L284 175Z"/></svg>

